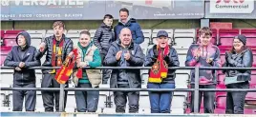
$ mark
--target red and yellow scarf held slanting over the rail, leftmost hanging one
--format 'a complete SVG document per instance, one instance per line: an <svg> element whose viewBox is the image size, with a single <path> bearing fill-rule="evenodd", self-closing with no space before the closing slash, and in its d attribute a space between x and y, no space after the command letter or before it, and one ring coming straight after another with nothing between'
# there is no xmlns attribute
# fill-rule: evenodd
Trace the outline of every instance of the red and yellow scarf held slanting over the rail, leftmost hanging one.
<svg viewBox="0 0 256 117"><path fill-rule="evenodd" d="M78 56L78 50L73 49L73 52L74 52L74 57L68 56L65 59L61 68L59 68L56 72L55 80L59 84L65 84L69 80L71 74L73 73L73 68L75 67L75 58L77 58L77 56ZM82 68L79 68L79 69L78 69L78 72L76 74L76 77L77 78L82 78Z"/></svg>

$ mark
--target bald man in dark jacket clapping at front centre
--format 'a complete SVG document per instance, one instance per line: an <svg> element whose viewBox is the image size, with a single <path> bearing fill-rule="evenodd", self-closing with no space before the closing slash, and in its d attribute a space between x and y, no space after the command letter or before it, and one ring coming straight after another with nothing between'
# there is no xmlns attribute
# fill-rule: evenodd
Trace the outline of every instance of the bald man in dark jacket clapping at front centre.
<svg viewBox="0 0 256 117"><path fill-rule="evenodd" d="M104 63L111 67L141 67L144 54L138 44L133 43L132 33L128 28L121 29L120 40L113 42ZM140 70L113 69L110 88L141 88ZM129 112L139 112L139 91L115 91L116 112L125 112L127 97Z"/></svg>

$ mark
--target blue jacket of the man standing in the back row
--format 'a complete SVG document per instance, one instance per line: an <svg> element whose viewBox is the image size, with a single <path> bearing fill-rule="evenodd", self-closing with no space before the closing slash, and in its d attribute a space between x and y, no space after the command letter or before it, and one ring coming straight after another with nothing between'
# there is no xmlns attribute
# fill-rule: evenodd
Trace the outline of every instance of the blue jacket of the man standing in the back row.
<svg viewBox="0 0 256 117"><path fill-rule="evenodd" d="M137 23L136 19L131 18L126 24L118 22L117 26L114 28L116 40L119 38L119 33L123 28L128 28L132 31L134 43L141 44L144 42L143 32L139 26L139 23Z"/></svg>

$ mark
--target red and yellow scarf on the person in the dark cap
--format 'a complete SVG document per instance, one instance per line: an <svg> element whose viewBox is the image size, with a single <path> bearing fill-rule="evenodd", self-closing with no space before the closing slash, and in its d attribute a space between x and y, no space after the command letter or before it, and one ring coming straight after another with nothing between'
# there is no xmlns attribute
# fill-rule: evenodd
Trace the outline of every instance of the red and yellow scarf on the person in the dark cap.
<svg viewBox="0 0 256 117"><path fill-rule="evenodd" d="M163 60L163 57L168 55L169 46L166 46L163 50L161 50L160 47L157 46L157 50L159 51L157 62L154 63L149 72L148 81L150 83L161 83L162 79L167 77L168 65Z"/></svg>

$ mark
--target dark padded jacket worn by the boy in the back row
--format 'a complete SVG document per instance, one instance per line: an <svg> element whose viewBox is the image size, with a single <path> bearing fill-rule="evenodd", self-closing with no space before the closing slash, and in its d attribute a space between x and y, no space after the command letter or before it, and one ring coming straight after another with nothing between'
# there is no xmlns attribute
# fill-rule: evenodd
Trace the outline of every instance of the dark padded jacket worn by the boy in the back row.
<svg viewBox="0 0 256 117"><path fill-rule="evenodd" d="M104 55L107 54L111 43L115 41L115 33L112 29L112 27L108 27L104 23L101 24L99 29L96 29L94 44Z"/></svg>

